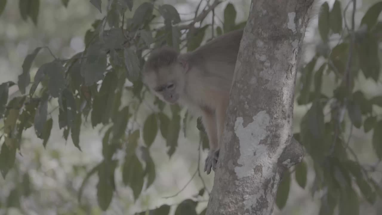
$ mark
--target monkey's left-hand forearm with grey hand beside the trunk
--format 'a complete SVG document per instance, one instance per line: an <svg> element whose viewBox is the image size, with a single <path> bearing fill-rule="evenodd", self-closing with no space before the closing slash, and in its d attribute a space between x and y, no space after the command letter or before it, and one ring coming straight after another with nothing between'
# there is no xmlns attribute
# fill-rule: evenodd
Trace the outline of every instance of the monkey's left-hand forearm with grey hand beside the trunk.
<svg viewBox="0 0 382 215"><path fill-rule="evenodd" d="M202 122L204 128L206 129L210 151L206 158L206 164L204 166L204 171L210 174L211 168L215 169L217 163L217 157L215 156L215 151L218 149L218 139L217 139L217 129L216 120L214 113L208 110L202 111Z"/></svg>

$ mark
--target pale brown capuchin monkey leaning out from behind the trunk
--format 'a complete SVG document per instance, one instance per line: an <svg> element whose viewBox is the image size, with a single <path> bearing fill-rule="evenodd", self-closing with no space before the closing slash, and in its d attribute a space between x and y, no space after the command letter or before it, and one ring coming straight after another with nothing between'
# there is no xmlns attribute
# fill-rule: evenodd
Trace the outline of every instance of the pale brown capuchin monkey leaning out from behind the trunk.
<svg viewBox="0 0 382 215"><path fill-rule="evenodd" d="M204 171L215 171L230 88L243 29L231 31L193 52L170 47L154 50L146 61L143 82L163 101L186 106L202 116L210 151Z"/></svg>

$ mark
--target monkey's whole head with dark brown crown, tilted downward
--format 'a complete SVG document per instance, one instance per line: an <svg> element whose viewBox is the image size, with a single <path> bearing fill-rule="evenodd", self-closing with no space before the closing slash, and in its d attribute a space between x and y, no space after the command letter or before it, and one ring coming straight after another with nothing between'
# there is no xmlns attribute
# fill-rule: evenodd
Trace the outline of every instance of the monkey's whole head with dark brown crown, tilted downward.
<svg viewBox="0 0 382 215"><path fill-rule="evenodd" d="M143 82L163 101L176 103L185 91L188 64L170 47L152 52L143 69Z"/></svg>

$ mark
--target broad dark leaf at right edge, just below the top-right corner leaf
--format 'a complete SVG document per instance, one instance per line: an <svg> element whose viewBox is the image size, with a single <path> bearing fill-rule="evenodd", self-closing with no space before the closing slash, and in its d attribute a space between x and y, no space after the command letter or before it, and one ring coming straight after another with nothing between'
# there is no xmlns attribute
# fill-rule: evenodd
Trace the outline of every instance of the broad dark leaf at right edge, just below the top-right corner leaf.
<svg viewBox="0 0 382 215"><path fill-rule="evenodd" d="M382 2L381 2L382 3ZM379 77L379 52L377 39L367 34L361 42L356 43L358 59L361 70L366 78L372 78L374 81Z"/></svg>

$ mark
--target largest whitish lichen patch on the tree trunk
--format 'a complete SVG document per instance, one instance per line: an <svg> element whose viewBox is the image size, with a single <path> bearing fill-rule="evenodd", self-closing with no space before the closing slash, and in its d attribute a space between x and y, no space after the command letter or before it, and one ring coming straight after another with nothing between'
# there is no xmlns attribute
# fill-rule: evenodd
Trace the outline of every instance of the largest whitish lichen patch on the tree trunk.
<svg viewBox="0 0 382 215"><path fill-rule="evenodd" d="M261 158L267 154L267 146L259 144L261 140L267 137L266 127L270 123L270 116L266 111L260 111L253 117L253 122L243 127L243 117L236 118L235 134L240 142L240 157L235 167L235 173L238 179L253 176L252 164L261 165ZM263 166L264 167L264 166Z"/></svg>

